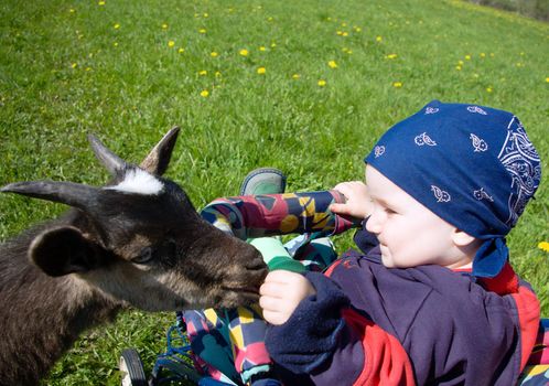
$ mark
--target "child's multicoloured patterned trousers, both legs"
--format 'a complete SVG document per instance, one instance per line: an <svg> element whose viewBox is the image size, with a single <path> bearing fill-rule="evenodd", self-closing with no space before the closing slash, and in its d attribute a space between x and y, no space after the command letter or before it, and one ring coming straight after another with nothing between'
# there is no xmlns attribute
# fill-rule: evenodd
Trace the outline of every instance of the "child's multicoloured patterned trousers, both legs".
<svg viewBox="0 0 549 386"><path fill-rule="evenodd" d="M331 203L342 201L343 196L335 191L238 196L218 199L201 215L244 240L299 234L284 247L308 270L322 271L337 257L326 237L358 225L329 211ZM269 268L276 269L277 262L273 265L274 268L269 264ZM269 368L266 323L259 307L193 310L183 315L193 351L216 379L246 383L251 375Z"/></svg>

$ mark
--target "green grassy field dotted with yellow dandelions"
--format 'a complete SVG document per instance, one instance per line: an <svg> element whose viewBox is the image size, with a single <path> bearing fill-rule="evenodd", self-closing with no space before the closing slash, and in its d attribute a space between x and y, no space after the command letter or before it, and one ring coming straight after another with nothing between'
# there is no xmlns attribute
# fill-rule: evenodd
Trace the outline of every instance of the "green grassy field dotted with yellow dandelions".
<svg viewBox="0 0 549 386"><path fill-rule="evenodd" d="M380 133L431 99L514 111L547 174L548 63L548 24L460 1L4 0L0 185L101 184L87 132L138 162L179 125L168 175L197 207L256 167L284 170L290 191L322 190L362 179ZM508 237L546 317L548 190L546 178ZM64 210L2 195L0 238ZM44 384L115 385L120 351L138 347L150 367L172 321L126 312Z"/></svg>

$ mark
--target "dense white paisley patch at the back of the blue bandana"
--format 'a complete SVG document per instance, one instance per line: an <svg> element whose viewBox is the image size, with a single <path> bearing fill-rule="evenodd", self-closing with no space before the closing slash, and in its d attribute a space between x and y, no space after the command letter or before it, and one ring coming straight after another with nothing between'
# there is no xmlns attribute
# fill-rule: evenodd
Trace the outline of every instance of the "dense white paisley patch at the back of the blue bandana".
<svg viewBox="0 0 549 386"><path fill-rule="evenodd" d="M539 154L517 117L509 122L507 138L497 158L513 178L507 224L515 226L541 180Z"/></svg>

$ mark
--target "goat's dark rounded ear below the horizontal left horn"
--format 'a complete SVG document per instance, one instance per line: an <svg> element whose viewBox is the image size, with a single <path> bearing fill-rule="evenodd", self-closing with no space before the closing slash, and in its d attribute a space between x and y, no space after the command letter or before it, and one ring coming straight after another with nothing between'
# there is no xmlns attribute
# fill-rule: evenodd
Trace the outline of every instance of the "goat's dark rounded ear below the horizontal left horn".
<svg viewBox="0 0 549 386"><path fill-rule="evenodd" d="M49 276L85 272L101 262L101 248L79 229L65 226L41 233L29 248L30 259Z"/></svg>

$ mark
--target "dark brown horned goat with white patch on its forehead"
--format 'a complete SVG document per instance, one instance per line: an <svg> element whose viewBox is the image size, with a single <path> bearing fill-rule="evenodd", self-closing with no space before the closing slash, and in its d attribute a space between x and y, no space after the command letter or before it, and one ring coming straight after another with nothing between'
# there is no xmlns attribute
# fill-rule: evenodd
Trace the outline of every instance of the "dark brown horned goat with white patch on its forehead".
<svg viewBox="0 0 549 386"><path fill-rule="evenodd" d="M127 304L148 311L257 302L266 266L256 249L203 221L161 178L174 128L140 167L90 137L107 186L20 182L1 189L71 205L0 245L0 385L32 385L86 329Z"/></svg>

